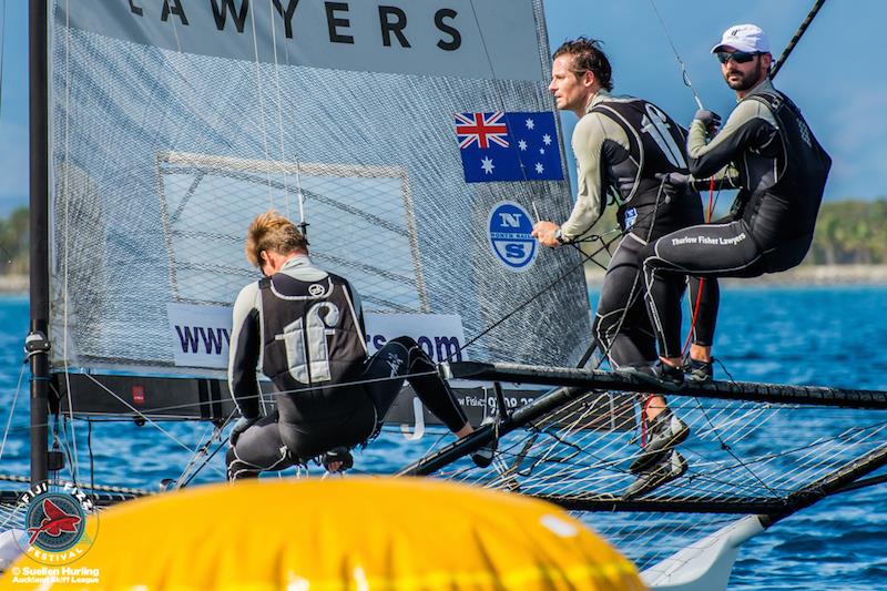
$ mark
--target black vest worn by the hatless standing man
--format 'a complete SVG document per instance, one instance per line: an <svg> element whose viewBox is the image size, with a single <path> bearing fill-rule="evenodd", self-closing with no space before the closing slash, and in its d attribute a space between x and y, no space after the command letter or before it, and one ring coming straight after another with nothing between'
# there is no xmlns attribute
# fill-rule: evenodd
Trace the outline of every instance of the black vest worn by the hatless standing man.
<svg viewBox="0 0 887 591"><path fill-rule="evenodd" d="M686 133L664 111L643 99L603 101L592 113L603 114L616 122L629 137L629 152L616 142L605 141L602 186L608 188L611 203L619 204L616 220L623 231L639 237L656 238L662 234L696 223L687 221L685 210L699 208L699 193L687 187L681 195L669 198L660 186L657 173L687 174ZM619 179L634 179L631 191L620 191ZM656 207L656 201L659 206ZM655 213L654 213L655 210ZM701 221L701 218L699 220ZM654 226L651 233L651 225Z"/></svg>

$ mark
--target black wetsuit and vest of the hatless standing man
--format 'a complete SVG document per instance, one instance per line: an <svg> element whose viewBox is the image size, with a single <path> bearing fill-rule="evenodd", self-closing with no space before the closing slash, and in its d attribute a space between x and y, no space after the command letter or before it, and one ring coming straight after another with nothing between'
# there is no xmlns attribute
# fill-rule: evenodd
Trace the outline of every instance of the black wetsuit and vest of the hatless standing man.
<svg viewBox="0 0 887 591"><path fill-rule="evenodd" d="M687 188L667 195L662 181L655 177L657 173L686 172L684 130L652 103L599 93L589 104L575 133L591 135L577 142L574 134L573 145L585 152L578 159L579 163L600 171L600 194L609 194L610 202L618 204L616 217L625 233L601 287L594 338L613 368L649 365L656 359L656 347L643 300L642 251L664 234L704 221L699 193ZM633 182L623 181L628 179ZM592 183L593 179L585 180L587 187ZM589 192L592 196L598 194ZM602 212L603 200L597 198L600 201L595 206ZM575 220L588 223L589 216L580 215L578 210L579 204L563 227L573 228ZM594 221L597 217L591 223ZM695 304L699 281L691 278L690 283L691 302ZM683 275L669 278L667 288L674 302L670 314L677 318L685 286ZM702 297L694 342L708 345L717 313L717 283L705 282Z"/></svg>

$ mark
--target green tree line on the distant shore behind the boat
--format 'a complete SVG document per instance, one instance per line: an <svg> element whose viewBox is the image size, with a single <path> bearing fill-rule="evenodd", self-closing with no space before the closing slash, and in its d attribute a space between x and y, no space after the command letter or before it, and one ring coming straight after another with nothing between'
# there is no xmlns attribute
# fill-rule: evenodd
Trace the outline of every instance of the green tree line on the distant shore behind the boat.
<svg viewBox="0 0 887 591"><path fill-rule="evenodd" d="M608 207L598 224L601 232L615 227L615 207ZM28 207L0 218L0 274L28 273ZM587 245L597 249L600 243ZM600 257L599 257L600 259ZM823 203L816 222L808 265L887 264L887 197Z"/></svg>

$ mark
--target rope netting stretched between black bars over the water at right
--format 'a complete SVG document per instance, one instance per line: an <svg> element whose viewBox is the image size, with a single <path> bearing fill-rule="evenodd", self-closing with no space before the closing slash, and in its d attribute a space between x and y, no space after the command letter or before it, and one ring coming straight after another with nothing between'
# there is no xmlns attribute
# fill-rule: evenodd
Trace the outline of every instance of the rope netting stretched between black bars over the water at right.
<svg viewBox="0 0 887 591"><path fill-rule="evenodd" d="M610 395L589 393L561 408L560 418L503 435L489 468L462 458L435 476L574 510L643 570L687 546L711 543L701 540L742 516L791 514L887 461L884 410L670 395L672 411L690 427L675 448L687 469L626 497L644 435L636 408L622 407L601 424L595 400L602 396ZM598 428L583 428L590 420Z"/></svg>

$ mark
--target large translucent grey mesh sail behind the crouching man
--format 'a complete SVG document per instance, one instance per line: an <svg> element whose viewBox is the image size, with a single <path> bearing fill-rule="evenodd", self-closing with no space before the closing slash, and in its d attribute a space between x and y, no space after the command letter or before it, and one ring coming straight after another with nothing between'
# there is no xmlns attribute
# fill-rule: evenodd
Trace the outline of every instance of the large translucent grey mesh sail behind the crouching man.
<svg viewBox="0 0 887 591"><path fill-rule="evenodd" d="M440 17L441 43L451 26L470 50L465 75L422 71L421 53L404 61L419 38L407 30L410 48L386 45L375 12L370 53L394 65L336 58L347 43L330 44L326 26L315 45L303 41L314 29L288 38L271 0L234 2L224 31L213 3L115 4L51 3L53 367L181 366L170 305L230 306L258 276L243 240L271 207L309 224L315 263L349 278L365 310L457 315L463 358L578 360L590 334L581 255L537 246L514 269L490 231L502 202L564 218L569 183L467 183L453 123L461 112L553 114L540 1L510 4L517 17L501 22L462 0ZM350 10L335 17L354 34L336 30L359 44L365 8ZM428 7L402 10L437 22ZM323 2L300 2L289 24L314 17ZM532 77L499 65L493 41L514 18L532 24L521 58ZM477 19L482 37L469 34ZM559 165L565 177L562 149Z"/></svg>

